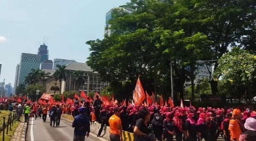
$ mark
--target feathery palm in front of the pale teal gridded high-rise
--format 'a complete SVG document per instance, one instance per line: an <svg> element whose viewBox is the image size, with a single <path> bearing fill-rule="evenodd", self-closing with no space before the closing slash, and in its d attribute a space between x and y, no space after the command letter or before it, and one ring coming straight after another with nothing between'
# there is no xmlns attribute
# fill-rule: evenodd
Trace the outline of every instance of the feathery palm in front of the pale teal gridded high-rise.
<svg viewBox="0 0 256 141"><path fill-rule="evenodd" d="M31 72L25 76L24 82L26 84L36 85L36 83L41 80L40 72L41 70L39 68L31 69Z"/></svg>

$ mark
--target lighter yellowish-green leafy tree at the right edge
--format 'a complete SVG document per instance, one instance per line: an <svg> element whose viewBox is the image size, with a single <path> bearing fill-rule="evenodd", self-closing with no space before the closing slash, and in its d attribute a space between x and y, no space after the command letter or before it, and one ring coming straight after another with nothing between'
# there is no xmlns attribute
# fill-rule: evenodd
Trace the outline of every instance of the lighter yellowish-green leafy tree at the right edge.
<svg viewBox="0 0 256 141"><path fill-rule="evenodd" d="M214 72L214 78L221 76L223 83L235 90L229 89L231 98L251 103L256 92L256 55L235 47L224 54L218 63L219 68Z"/></svg>

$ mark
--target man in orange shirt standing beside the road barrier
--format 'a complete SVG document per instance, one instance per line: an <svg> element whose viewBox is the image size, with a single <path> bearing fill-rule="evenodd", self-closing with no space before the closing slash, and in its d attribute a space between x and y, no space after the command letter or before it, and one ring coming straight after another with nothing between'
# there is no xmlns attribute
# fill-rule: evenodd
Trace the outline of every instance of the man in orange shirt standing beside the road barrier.
<svg viewBox="0 0 256 141"><path fill-rule="evenodd" d="M122 138L122 122L120 119L120 109L116 107L114 109L114 115L109 118L109 127L110 127L110 141L123 141Z"/></svg>

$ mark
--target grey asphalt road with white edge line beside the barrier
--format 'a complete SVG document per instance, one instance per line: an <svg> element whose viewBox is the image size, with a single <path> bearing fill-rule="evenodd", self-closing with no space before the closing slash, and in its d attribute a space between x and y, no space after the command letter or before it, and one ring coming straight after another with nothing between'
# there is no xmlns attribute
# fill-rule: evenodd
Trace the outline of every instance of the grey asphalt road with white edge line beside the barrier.
<svg viewBox="0 0 256 141"><path fill-rule="evenodd" d="M74 128L71 123L60 120L60 127L50 127L50 119L47 117L46 122L42 119L30 118L26 141L72 141ZM104 138L98 138L95 134L90 133L86 141L107 141Z"/></svg>

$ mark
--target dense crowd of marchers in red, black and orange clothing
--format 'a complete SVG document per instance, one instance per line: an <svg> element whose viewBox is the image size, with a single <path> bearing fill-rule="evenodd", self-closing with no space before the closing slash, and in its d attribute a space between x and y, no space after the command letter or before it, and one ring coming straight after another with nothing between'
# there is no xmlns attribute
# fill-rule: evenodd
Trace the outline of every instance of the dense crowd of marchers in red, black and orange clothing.
<svg viewBox="0 0 256 141"><path fill-rule="evenodd" d="M4 104L1 103L0 108L1 105ZM114 119L116 119L115 116L121 119L122 130L134 133L134 141L141 141L141 137L149 136L151 133L158 141L173 141L174 138L176 141L200 141L202 139L216 141L220 136L225 141L254 141L256 139L256 111L251 106L216 109L211 107L196 109L194 106L173 108L167 105L103 106L97 96L93 103L88 100L81 103L78 99L74 105L32 104L30 106L29 103L17 103L10 104L8 110L12 111L13 108L17 109L18 117L24 113L25 122L31 116L35 119L42 117L45 122L49 114L50 126L59 126L61 114L77 117L82 112L89 121L101 124L98 137L101 137L105 125L111 127L110 117L114 115ZM78 117L75 119L81 120ZM115 138L114 136L113 139Z"/></svg>

